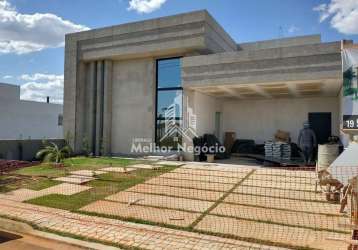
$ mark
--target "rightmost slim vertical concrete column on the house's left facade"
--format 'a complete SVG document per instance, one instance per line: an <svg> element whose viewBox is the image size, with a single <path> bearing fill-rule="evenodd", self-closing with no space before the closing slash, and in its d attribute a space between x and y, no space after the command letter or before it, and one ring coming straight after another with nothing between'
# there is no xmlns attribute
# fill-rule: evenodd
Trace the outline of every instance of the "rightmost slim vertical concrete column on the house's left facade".
<svg viewBox="0 0 358 250"><path fill-rule="evenodd" d="M111 132L112 132L112 75L113 63L104 61L104 95L103 95L103 153L111 154Z"/></svg>

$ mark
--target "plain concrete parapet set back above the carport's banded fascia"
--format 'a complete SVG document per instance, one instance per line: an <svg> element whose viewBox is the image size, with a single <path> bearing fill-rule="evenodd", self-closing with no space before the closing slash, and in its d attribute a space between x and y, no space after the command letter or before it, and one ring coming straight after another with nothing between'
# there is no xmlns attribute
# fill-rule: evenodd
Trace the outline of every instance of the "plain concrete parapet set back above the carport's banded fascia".
<svg viewBox="0 0 358 250"><path fill-rule="evenodd" d="M237 47L238 50L259 50L259 49L300 46L300 45L308 45L308 44L316 44L316 43L321 43L321 35L319 34L240 43L237 45Z"/></svg>

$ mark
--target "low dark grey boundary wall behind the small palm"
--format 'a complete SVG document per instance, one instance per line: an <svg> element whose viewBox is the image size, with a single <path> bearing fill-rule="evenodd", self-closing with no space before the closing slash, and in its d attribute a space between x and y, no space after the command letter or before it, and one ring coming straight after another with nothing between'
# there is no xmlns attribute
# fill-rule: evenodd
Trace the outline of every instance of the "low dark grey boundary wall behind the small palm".
<svg viewBox="0 0 358 250"><path fill-rule="evenodd" d="M49 139L59 147L65 145L63 139ZM0 159L36 160L36 153L43 147L42 140L0 140Z"/></svg>

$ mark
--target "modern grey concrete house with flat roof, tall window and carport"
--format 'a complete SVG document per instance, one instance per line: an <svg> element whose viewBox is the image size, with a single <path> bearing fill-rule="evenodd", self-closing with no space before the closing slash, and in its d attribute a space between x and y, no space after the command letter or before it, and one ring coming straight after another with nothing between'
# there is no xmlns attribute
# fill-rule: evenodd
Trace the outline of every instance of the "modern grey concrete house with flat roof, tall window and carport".
<svg viewBox="0 0 358 250"><path fill-rule="evenodd" d="M78 152L84 138L96 154L130 154L135 138L190 144L173 133L161 140L174 103L175 123L194 114L197 135L260 143L281 129L295 141L310 120L324 138L339 135L341 87L340 41L237 44L197 11L67 35L64 129Z"/></svg>

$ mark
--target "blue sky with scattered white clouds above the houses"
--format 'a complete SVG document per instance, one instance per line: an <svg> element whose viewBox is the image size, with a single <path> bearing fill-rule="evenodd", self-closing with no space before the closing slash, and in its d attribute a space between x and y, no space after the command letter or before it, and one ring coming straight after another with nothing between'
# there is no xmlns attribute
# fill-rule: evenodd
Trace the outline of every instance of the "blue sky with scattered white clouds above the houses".
<svg viewBox="0 0 358 250"><path fill-rule="evenodd" d="M64 33L199 9L238 43L317 33L358 42L357 0L0 0L0 82L23 85L25 99L53 93L60 102Z"/></svg>

